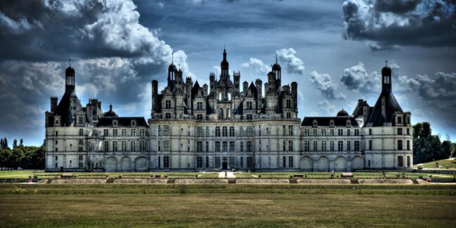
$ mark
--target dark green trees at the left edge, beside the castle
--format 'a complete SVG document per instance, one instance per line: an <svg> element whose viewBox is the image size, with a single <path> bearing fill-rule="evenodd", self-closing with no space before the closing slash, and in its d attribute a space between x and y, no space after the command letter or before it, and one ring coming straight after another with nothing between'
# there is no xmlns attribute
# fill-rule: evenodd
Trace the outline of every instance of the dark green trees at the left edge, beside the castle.
<svg viewBox="0 0 456 228"><path fill-rule="evenodd" d="M44 144L41 147L25 146L23 140L13 140L13 147L8 146L8 139L0 139L0 168L44 169Z"/></svg>

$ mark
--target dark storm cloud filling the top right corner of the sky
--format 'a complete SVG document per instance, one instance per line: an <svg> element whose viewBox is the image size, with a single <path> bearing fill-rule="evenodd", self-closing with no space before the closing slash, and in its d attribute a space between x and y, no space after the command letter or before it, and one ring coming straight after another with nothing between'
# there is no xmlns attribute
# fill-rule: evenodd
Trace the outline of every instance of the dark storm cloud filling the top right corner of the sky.
<svg viewBox="0 0 456 228"><path fill-rule="evenodd" d="M452 0L348 0L344 37L369 41L372 50L397 46L456 46Z"/></svg>

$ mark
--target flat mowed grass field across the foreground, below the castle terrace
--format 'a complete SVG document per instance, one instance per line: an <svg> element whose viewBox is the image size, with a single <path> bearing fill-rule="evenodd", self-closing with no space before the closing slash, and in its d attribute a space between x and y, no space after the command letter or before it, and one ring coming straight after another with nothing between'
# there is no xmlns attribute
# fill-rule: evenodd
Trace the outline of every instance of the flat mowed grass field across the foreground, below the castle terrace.
<svg viewBox="0 0 456 228"><path fill-rule="evenodd" d="M456 227L456 185L0 184L0 227Z"/></svg>

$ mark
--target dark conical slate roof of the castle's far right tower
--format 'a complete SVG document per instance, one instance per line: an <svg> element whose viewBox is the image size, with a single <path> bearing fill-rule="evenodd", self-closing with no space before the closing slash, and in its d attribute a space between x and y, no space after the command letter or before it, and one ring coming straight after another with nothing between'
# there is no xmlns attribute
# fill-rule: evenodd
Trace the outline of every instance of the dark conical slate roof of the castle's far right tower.
<svg viewBox="0 0 456 228"><path fill-rule="evenodd" d="M385 116L382 115L382 98L385 98ZM392 123L394 112L403 111L393 93L389 90L383 90L370 112L365 126L377 127L383 126L384 123Z"/></svg>

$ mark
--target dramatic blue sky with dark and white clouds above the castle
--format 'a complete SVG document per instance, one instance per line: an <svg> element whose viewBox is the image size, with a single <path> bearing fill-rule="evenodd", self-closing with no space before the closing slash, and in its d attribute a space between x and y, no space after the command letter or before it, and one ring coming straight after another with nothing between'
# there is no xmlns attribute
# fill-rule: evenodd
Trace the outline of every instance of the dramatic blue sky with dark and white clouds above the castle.
<svg viewBox="0 0 456 228"><path fill-rule="evenodd" d="M412 123L456 139L456 6L451 0L0 1L0 137L41 145L49 99L76 70L82 104L150 117L150 81L167 66L193 82L220 72L266 81L277 56L282 85L298 83L299 118L373 106L385 60ZM208 83L209 84L209 83Z"/></svg>

